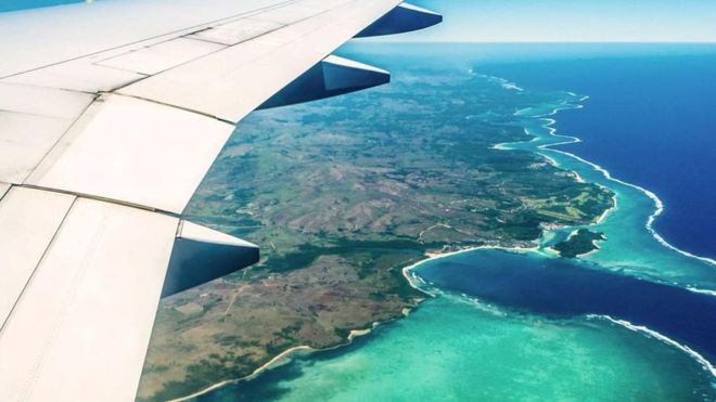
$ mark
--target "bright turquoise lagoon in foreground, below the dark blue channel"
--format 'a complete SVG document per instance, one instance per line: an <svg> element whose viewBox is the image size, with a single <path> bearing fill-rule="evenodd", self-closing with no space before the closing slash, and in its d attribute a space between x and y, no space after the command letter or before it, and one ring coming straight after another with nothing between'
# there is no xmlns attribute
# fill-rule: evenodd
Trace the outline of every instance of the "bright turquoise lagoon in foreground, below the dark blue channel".
<svg viewBox="0 0 716 402"><path fill-rule="evenodd" d="M714 400L679 350L599 320L504 314L444 295L341 351L317 353L201 401Z"/></svg>

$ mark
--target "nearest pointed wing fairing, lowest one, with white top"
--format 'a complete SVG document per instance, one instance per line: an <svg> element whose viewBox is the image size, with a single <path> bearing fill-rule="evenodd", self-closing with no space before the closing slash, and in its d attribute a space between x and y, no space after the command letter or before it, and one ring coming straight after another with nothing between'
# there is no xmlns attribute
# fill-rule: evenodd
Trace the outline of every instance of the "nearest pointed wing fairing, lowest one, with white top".
<svg viewBox="0 0 716 402"><path fill-rule="evenodd" d="M171 250L162 297L199 286L258 262L258 246L182 221Z"/></svg>

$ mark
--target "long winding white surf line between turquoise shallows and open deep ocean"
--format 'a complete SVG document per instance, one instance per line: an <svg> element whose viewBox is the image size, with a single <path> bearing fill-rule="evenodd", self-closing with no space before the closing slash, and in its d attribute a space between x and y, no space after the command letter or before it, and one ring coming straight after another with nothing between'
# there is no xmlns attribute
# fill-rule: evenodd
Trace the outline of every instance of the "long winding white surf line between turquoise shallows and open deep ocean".
<svg viewBox="0 0 716 402"><path fill-rule="evenodd" d="M586 96L586 98L584 98L584 99L586 100L586 99L588 99L588 96ZM678 247L676 247L676 246L669 244L668 242L666 242L666 239L665 239L664 237L662 237L662 235L659 234L659 232L656 232L656 230L653 228L654 221L656 220L656 218L657 218L660 215L662 215L662 212L664 212L664 203L661 200L661 198L659 198L659 196L656 196L656 194L654 194L653 192L651 192L651 191L649 191L649 190L647 190L647 189L644 189L644 187L641 187L641 186L639 186L639 185L637 185L637 184L631 184L631 183L625 182L625 181L623 181L623 180L616 179L616 178L612 177L612 174L610 173L609 170L606 170L606 169L604 169L603 167L601 167L601 166L599 166L599 165L597 165L597 164L594 164L594 163L592 163L592 161L589 161L589 160L587 160L587 159L585 159L585 158L583 158L583 157L580 157L580 156L577 156L577 155L575 155L575 154L568 153L568 152L566 152L566 151L554 150L554 148L552 148L552 146L566 145L566 144L575 144L575 143L579 143L579 142L581 142L581 140L580 140L579 138L577 138L577 137L558 134L558 133L557 133L557 129L555 129L554 127L552 127L552 126L557 122L557 120L554 120L553 118L545 117L545 116L553 116L553 115L555 115L557 113L559 113L560 111L578 109L578 108L583 108L583 107L584 107L584 105L568 105L568 106L567 106L567 105L568 105L568 104L565 104L565 107L557 107L557 108L552 109L551 112L549 112L549 113L547 113L547 114L544 114L544 115L532 116L532 117L534 117L534 118L538 118L538 119L541 119L541 120L546 121L546 124L542 125L542 126L540 126L540 127L542 127L542 128L545 128L546 130L548 130L548 132L549 132L550 135L555 137L555 138L563 138L563 139L565 139L565 141L563 141L563 142L557 142L557 143L550 143L550 144L537 145L537 148L538 148L538 150L545 150L545 151L554 152L554 153L562 154L562 155L565 155L565 156L567 156L567 157L574 158L574 159L576 159L576 160L578 160L578 161L580 161L580 163L583 163L583 164L586 164L586 165L590 166L590 167L593 168L594 170L599 171L600 173L602 173L602 176L603 176L606 180L610 180L610 181L613 181L613 182L615 182L615 183L618 183L618 184L622 184L622 185L625 185L625 186L628 186L628 187L631 187L631 189L635 189L635 190L637 190L637 191L642 192L642 193L645 194L649 198L651 198L652 202L653 202L654 205L655 205L655 210L654 210L654 212L649 217L649 219L648 219L648 221L647 221L647 223L645 223L645 225L644 225L645 229L649 231L649 233L651 233L651 235L652 235L652 236L653 236L653 237L654 237L660 244L662 244L663 246L665 246L665 247L667 247L667 248L670 248L672 250L674 250L674 251L676 251L676 252L678 252L678 254L680 254L680 255L682 255L682 256L686 256L686 257L689 257L689 258L694 258L694 259L696 259L696 260L700 260L700 261L703 261L703 262L706 262L706 263L708 263L708 264L711 264L711 265L716 267L716 260L711 259L711 258L707 258L707 257L695 256L695 255L693 255L693 254L691 254L691 252L685 251L685 250L682 250L682 249L680 249L680 248L678 248ZM519 112L519 111L517 111L517 112ZM515 113L515 115L516 115L516 113ZM519 115L519 116L524 116L524 115ZM530 117L530 116L524 116L524 117ZM527 128L525 128L525 132L530 133L530 132L529 132L529 129L527 129ZM533 140L533 141L534 141L534 140ZM500 146L500 145L502 145L502 146L509 146L509 144L510 144L510 143L502 143L502 144L498 144L497 146ZM544 155L542 155L542 156L544 156ZM690 290L695 290L695 289L692 288L692 287L688 287L688 289L690 289ZM716 290L699 290L699 291L700 291L700 293L707 293L707 294L711 294L711 295L716 295Z"/></svg>

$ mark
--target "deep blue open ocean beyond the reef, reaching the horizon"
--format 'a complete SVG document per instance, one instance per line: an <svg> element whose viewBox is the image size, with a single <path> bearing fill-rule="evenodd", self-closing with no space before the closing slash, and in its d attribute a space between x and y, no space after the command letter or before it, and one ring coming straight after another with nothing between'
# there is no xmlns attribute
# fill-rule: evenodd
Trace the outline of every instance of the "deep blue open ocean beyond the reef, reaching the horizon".
<svg viewBox="0 0 716 402"><path fill-rule="evenodd" d="M584 109L559 114L558 132L583 140L561 148L654 192L665 204L654 229L680 249L716 257L716 46L500 49L475 70L588 95Z"/></svg>

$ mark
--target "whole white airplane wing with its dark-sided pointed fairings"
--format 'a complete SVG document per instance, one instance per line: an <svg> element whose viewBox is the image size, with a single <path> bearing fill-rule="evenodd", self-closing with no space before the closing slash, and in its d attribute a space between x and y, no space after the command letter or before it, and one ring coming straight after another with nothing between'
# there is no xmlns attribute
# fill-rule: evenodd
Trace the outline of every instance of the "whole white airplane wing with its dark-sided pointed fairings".
<svg viewBox="0 0 716 402"><path fill-rule="evenodd" d="M235 124L387 82L331 52L440 20L399 0L0 14L0 400L133 400L159 298L258 260L182 219Z"/></svg>

